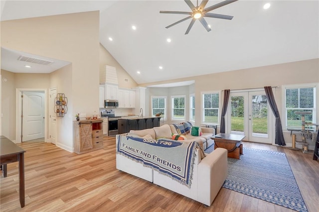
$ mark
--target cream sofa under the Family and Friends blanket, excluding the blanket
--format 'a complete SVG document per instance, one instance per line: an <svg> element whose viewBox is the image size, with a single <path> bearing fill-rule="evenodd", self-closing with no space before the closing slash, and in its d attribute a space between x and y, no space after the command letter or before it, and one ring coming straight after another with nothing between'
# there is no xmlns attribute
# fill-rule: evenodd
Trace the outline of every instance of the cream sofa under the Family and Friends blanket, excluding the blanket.
<svg viewBox="0 0 319 212"><path fill-rule="evenodd" d="M168 125L167 125L168 126ZM164 134L159 134L160 132L165 132L167 126L163 125L161 129L145 129L145 130L131 130L130 133L125 133L116 136L116 168L123 172L129 173L131 175L137 176L149 182L152 182L158 186L176 192L180 195L188 197L205 206L210 206L217 196L220 188L222 187L224 181L227 177L227 150L223 148L216 148L213 152L209 154L203 153L200 145L195 141L189 140L177 140L173 141L169 138L162 137ZM169 126L168 126L169 127ZM156 134L157 132L157 134ZM155 133L155 134L154 134ZM208 133L208 132L205 132ZM135 137L133 136L135 135ZM168 134L167 134L168 135ZM158 140L156 138L160 137ZM175 143L184 143L183 145L196 144L194 146L194 154L192 160L192 175L191 175L191 185L185 186L176 179L172 179L167 174L163 174L161 171L154 169L146 164L143 164L141 160L133 160L127 155L120 154L118 152L121 148L121 140L125 140L127 145L131 145L136 141L136 139L143 139L149 143L155 143L155 141L171 141ZM195 138L194 138L195 139ZM203 141L203 139L197 139L198 141ZM207 141L207 140L206 140ZM142 142L143 143L143 142ZM202 144L204 144L203 142ZM145 144L146 145L146 144ZM157 148L151 146L150 148ZM134 150L134 149L133 149ZM154 149L153 149L154 150ZM155 150L158 151L158 150ZM176 153L175 149L171 148L167 154L173 155L174 158L183 158L182 155Z"/></svg>

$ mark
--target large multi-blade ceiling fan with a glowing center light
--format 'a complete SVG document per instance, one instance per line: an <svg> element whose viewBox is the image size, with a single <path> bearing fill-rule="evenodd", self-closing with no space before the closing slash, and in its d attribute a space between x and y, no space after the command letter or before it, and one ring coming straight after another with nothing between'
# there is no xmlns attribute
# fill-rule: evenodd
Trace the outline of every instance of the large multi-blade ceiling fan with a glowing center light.
<svg viewBox="0 0 319 212"><path fill-rule="evenodd" d="M237 0L225 0L219 3L216 3L212 6L209 6L207 8L205 8L208 0L202 0L201 3L198 6L198 0L197 0L197 6L194 6L194 4L190 1L190 0L184 0L187 5L190 7L190 9L192 10L191 12L180 12L180 11L160 11L160 13L170 13L170 14L186 14L189 15L188 17L185 17L173 24L170 24L169 26L166 26L165 28L169 28L171 26L176 25L177 23L180 23L184 20L187 20L189 18L192 18L192 20L190 21L188 28L185 32L185 34L188 34L189 30L191 29L191 27L193 26L194 22L196 19L198 19L200 21L200 23L205 27L205 29L207 30L207 32L209 32L211 30L211 28L208 26L207 22L205 21L204 17L213 17L213 18L222 18L222 19L227 19L227 20L231 20L233 18L233 16L230 15L221 15L221 14L215 14L215 13L209 13L209 11L213 10L213 9L217 9L221 6L225 6L229 3L232 3L234 1Z"/></svg>

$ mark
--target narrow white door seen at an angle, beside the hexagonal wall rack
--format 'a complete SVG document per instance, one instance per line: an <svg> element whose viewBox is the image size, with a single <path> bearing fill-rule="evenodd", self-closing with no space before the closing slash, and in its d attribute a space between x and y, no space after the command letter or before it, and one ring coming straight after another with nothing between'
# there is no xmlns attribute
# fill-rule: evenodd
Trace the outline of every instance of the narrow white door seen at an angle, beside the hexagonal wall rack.
<svg viewBox="0 0 319 212"><path fill-rule="evenodd" d="M50 103L49 103L49 137L50 142L56 144L56 113L54 111L54 103L56 97L56 88L50 89Z"/></svg>

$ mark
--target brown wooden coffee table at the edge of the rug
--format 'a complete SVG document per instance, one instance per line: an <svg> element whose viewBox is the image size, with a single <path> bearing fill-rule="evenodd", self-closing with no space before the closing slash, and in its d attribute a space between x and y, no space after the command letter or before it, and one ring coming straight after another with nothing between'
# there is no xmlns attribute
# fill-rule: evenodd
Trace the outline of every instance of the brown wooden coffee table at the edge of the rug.
<svg viewBox="0 0 319 212"><path fill-rule="evenodd" d="M243 154L243 144L241 141L244 137L245 135L219 133L211 137L211 139L215 141L214 149L218 147L227 149L227 156L229 158L240 159L240 155Z"/></svg>

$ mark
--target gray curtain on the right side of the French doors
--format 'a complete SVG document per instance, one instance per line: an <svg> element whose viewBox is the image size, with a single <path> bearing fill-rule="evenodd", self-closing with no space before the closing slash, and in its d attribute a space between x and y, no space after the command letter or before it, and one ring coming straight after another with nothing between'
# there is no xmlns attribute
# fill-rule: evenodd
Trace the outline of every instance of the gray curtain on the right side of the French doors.
<svg viewBox="0 0 319 212"><path fill-rule="evenodd" d="M283 128L281 126L281 120L278 112L278 108L275 102L273 90L271 89L270 86L264 87L266 96L268 99L268 103L273 110L273 113L276 117L276 122L275 122L275 143L280 145L280 146L286 146L284 135L283 135Z"/></svg>

